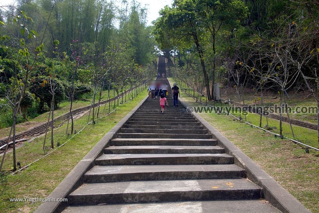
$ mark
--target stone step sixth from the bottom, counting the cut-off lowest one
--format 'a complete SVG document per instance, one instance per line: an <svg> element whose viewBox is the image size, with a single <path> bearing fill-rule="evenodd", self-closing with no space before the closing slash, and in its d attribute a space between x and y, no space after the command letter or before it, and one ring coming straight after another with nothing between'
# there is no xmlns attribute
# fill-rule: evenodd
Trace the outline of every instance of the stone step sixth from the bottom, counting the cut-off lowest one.
<svg viewBox="0 0 319 213"><path fill-rule="evenodd" d="M170 139L170 138L115 138L112 146L216 146L213 139Z"/></svg>

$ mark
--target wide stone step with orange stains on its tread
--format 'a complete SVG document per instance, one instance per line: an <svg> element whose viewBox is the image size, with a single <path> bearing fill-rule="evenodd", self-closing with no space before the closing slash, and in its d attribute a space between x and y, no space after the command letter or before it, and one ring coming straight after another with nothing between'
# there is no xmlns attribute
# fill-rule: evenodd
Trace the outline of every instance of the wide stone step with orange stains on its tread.
<svg viewBox="0 0 319 213"><path fill-rule="evenodd" d="M246 179L163 180L88 183L68 196L68 203L138 203L189 200L259 199L262 189Z"/></svg>

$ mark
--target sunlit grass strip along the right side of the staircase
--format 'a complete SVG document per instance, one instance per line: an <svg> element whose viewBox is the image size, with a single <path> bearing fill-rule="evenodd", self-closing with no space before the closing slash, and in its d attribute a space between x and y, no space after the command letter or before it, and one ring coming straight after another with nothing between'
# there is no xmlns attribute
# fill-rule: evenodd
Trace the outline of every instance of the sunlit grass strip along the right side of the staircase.
<svg viewBox="0 0 319 213"><path fill-rule="evenodd" d="M174 83L170 78L171 83ZM190 106L199 106L185 92L182 99ZM203 106L203 105L201 105ZM319 153L309 154L289 140L274 138L263 130L236 121L231 116L216 113L200 113L213 127L218 129L246 155L295 196L312 212L319 212ZM249 114L247 121L259 125L259 115ZM279 129L279 121L268 119L270 126ZM266 124L265 119L263 125ZM273 130L278 133L279 130ZM292 137L288 123L283 123L284 135ZM318 148L317 131L293 126L297 140Z"/></svg>

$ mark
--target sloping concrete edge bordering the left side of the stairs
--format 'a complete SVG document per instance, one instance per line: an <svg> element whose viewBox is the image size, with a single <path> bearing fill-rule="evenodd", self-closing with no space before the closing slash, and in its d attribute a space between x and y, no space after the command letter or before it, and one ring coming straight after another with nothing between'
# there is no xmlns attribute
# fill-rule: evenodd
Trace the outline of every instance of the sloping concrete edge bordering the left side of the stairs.
<svg viewBox="0 0 319 213"><path fill-rule="evenodd" d="M122 120L120 120L115 127L113 127L103 138L89 151L88 154L70 171L70 173L63 179L63 181L51 192L48 198L55 200L67 198L67 196L84 183L84 174L94 166L94 161L103 154L104 148L109 146L109 141L116 137L116 134L122 126L130 119L136 110L147 99L146 96L136 107L134 107ZM67 202L44 202L35 213L60 213L68 206Z"/></svg>

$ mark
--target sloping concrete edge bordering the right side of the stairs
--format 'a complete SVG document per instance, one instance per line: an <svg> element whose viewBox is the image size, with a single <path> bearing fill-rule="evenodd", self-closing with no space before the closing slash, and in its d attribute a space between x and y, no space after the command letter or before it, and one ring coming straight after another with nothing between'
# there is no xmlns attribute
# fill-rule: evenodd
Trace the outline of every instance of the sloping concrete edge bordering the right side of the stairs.
<svg viewBox="0 0 319 213"><path fill-rule="evenodd" d="M189 106L181 98L178 99L185 107ZM218 141L218 145L225 148L226 153L234 157L234 163L246 170L247 178L263 188L263 196L271 205L284 213L310 213L302 203L260 168L253 160L245 155L223 134L211 126L211 124L204 120L199 114L195 112L192 112L192 114L212 134L212 138Z"/></svg>

